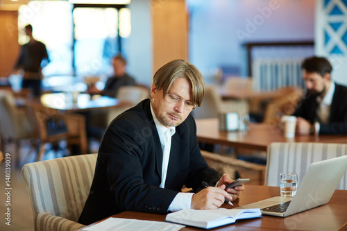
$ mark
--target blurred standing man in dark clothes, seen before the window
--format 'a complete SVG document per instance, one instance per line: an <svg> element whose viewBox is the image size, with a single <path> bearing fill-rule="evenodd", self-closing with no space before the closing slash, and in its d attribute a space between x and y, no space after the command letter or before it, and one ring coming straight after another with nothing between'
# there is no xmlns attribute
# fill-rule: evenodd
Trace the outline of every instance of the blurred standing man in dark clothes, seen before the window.
<svg viewBox="0 0 347 231"><path fill-rule="evenodd" d="M31 89L34 96L41 94L42 68L49 62L46 46L34 39L33 26L26 25L25 33L29 42L22 46L21 53L15 65L15 69L23 69L24 76L22 87ZM46 63L42 62L46 60Z"/></svg>

